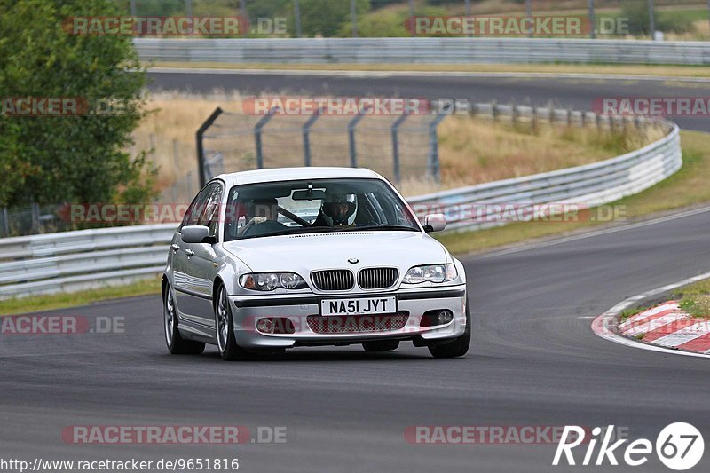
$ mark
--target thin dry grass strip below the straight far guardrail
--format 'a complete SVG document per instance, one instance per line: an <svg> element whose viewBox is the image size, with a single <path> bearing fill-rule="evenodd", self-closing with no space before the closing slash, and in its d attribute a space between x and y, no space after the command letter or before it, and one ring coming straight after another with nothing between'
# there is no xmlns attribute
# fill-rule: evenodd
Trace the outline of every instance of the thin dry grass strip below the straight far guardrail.
<svg viewBox="0 0 710 473"><path fill-rule="evenodd" d="M320 70L320 71L422 71L472 73L548 73L602 75L663 75L669 77L710 77L710 67L625 66L574 64L230 64L225 62L154 62L146 67L183 67L209 69Z"/></svg>

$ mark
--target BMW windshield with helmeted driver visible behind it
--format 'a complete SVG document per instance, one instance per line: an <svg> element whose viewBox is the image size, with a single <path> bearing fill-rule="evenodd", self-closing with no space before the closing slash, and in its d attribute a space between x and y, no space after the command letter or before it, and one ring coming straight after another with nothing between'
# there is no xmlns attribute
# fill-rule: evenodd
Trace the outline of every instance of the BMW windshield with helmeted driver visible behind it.
<svg viewBox="0 0 710 473"><path fill-rule="evenodd" d="M225 241L351 230L420 232L404 202L379 179L311 179L235 185Z"/></svg>

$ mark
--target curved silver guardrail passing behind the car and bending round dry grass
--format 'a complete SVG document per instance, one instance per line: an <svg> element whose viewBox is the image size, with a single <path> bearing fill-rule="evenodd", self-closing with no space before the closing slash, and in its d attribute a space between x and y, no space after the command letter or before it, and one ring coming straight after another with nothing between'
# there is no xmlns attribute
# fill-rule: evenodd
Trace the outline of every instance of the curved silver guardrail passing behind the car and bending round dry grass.
<svg viewBox="0 0 710 473"><path fill-rule="evenodd" d="M487 107L487 108L486 108ZM493 116L548 116L567 123L583 123L599 116L567 110L533 109L525 106L477 104ZM594 115L594 116L592 116ZM616 119L604 117L607 126ZM477 222L461 217L469 204L544 204L574 202L596 206L616 201L671 176L682 166L680 130L668 123L666 137L632 153L603 162L431 193L409 199L417 209L439 208L450 215L447 228L476 230L500 223ZM494 220L494 219L493 219ZM106 284L121 284L153 276L162 269L177 224L137 225L46 233L0 239L0 299L56 292L70 292Z"/></svg>

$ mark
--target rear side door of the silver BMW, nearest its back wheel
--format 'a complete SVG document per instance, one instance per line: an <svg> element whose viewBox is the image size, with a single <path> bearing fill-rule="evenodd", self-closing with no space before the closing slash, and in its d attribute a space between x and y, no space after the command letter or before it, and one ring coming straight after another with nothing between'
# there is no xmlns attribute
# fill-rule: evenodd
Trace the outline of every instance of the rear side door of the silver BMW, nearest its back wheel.
<svg viewBox="0 0 710 473"><path fill-rule="evenodd" d="M173 287L175 289L175 304L181 319L190 322L200 322L201 306L204 305L200 297L193 296L194 284L188 275L194 272L191 269L193 264L193 245L182 240L182 227L185 225L198 225L201 215L204 213L206 203L212 193L213 185L207 185L193 199L185 212L182 224L177 229L177 233L170 245L173 271Z"/></svg>

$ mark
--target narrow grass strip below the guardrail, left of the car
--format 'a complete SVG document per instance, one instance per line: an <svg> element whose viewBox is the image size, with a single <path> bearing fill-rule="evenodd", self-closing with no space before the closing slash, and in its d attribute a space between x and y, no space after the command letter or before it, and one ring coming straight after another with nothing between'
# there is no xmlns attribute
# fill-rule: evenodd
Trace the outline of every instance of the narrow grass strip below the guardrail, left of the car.
<svg viewBox="0 0 710 473"><path fill-rule="evenodd" d="M17 313L52 311L122 297L148 296L160 294L160 292L160 280L156 278L122 286L106 286L68 294L18 297L0 301L0 317Z"/></svg>

